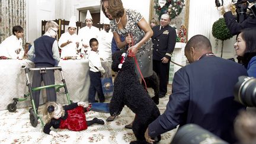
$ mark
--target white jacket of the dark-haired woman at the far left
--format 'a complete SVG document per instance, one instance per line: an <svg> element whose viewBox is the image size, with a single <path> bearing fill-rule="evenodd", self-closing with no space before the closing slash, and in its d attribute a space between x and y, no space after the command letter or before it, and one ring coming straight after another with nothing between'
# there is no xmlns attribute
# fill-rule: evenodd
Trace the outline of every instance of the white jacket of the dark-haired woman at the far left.
<svg viewBox="0 0 256 144"><path fill-rule="evenodd" d="M12 34L0 44L0 56L17 59L18 55L15 53L15 50L18 49L23 50L23 40L21 38L18 39Z"/></svg>

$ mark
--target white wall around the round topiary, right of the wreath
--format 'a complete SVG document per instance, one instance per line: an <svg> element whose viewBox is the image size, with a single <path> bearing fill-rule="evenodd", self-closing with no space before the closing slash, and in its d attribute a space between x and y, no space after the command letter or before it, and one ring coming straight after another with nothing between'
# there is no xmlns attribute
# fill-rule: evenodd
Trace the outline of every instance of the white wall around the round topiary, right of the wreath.
<svg viewBox="0 0 256 144"><path fill-rule="evenodd" d="M188 39L196 34L208 37L212 43L213 52L217 56L220 56L222 41L216 42L215 37L212 36L212 25L220 17L222 15L217 11L215 1L190 0ZM223 58L236 57L233 43L235 43L235 37L224 41Z"/></svg>

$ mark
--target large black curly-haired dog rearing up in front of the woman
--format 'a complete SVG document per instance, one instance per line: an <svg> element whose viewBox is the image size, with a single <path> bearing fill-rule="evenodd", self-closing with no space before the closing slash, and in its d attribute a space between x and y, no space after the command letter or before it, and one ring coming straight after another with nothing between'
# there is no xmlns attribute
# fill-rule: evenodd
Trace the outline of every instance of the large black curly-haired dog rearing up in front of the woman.
<svg viewBox="0 0 256 144"><path fill-rule="evenodd" d="M134 58L126 57L121 68L119 67L123 53L124 51L120 50L112 56L112 70L119 73L114 79L114 92L110 101L110 114L111 116L119 114L124 105L127 105L136 114L132 124L132 130L137 140L131 143L147 143L144 136L146 129L160 115L160 112L139 82L135 73ZM156 137L156 141L160 139L160 135Z"/></svg>

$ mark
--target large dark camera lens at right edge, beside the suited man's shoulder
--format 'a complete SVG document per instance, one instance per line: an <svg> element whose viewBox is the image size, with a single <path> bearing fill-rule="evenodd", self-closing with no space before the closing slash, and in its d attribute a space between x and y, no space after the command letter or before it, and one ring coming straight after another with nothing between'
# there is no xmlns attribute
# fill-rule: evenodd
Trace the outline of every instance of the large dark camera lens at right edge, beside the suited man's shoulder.
<svg viewBox="0 0 256 144"><path fill-rule="evenodd" d="M256 107L256 78L239 76L234 88L235 100L248 107Z"/></svg>

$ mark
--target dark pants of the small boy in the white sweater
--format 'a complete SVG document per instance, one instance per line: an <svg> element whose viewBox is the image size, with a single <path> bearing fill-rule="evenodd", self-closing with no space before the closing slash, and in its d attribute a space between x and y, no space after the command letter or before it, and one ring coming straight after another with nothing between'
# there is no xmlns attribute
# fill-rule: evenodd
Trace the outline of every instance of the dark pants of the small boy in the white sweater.
<svg viewBox="0 0 256 144"><path fill-rule="evenodd" d="M105 97L104 97L104 94L103 94L103 89L101 87L101 72L89 71L89 76L90 76L91 85L89 87L88 102L89 103L94 103L95 102L96 91L98 92L98 98L100 99L100 102L105 101Z"/></svg>

